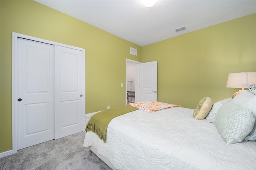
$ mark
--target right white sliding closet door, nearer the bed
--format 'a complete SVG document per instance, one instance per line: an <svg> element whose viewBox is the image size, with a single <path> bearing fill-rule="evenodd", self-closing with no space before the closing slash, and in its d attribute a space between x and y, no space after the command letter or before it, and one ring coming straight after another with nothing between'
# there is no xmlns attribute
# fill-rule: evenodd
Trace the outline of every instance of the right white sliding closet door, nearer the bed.
<svg viewBox="0 0 256 170"><path fill-rule="evenodd" d="M55 46L55 139L83 131L83 52Z"/></svg>

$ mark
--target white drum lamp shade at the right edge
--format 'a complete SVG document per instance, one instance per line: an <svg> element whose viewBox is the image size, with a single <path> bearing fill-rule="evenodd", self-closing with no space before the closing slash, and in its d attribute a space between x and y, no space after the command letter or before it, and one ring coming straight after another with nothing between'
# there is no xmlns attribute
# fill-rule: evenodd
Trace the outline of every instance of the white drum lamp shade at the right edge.
<svg viewBox="0 0 256 170"><path fill-rule="evenodd" d="M256 83L256 72L230 73L226 87L249 88Z"/></svg>

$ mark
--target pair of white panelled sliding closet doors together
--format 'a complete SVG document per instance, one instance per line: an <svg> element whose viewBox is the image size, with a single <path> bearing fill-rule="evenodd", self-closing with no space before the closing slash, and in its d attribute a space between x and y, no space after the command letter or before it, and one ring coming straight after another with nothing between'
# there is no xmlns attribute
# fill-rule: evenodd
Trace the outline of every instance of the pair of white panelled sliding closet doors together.
<svg viewBox="0 0 256 170"><path fill-rule="evenodd" d="M84 49L29 38L13 39L14 153L84 131Z"/></svg>

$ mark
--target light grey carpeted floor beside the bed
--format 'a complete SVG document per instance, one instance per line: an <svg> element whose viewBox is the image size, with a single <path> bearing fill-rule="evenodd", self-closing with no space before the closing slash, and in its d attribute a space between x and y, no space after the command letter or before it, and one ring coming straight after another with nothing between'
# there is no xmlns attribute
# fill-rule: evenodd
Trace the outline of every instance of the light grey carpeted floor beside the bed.
<svg viewBox="0 0 256 170"><path fill-rule="evenodd" d="M1 170L111 170L93 152L86 155L84 132L18 150L0 159Z"/></svg>

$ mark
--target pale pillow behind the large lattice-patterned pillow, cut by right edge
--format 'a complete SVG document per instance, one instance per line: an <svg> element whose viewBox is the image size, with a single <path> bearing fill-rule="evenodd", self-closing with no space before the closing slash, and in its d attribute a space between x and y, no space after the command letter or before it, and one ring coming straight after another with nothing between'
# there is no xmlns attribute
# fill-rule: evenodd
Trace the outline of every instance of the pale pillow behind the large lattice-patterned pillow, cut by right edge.
<svg viewBox="0 0 256 170"><path fill-rule="evenodd" d="M256 95L253 95L248 91L244 91L236 95L231 100L231 102L237 104L240 107L251 110L256 119ZM254 124L252 132L250 132L245 140L256 141L256 123Z"/></svg>

